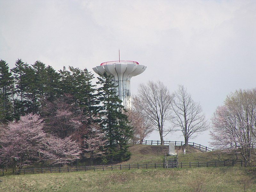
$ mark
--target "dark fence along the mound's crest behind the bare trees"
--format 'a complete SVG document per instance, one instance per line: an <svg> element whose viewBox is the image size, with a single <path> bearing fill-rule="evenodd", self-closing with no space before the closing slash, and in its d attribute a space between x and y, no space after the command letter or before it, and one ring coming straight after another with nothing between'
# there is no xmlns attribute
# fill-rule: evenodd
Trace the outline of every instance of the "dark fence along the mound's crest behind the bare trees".
<svg viewBox="0 0 256 192"><path fill-rule="evenodd" d="M175 146L181 146L182 144L183 145L185 144L184 141L164 141L164 145L169 145L169 142L175 143ZM161 145L161 141L145 140L145 141L142 141L142 144L144 144L144 145ZM203 146L201 144L197 144L195 142L188 142L188 145L193 146L193 147L198 148L203 151L213 151L212 148Z"/></svg>

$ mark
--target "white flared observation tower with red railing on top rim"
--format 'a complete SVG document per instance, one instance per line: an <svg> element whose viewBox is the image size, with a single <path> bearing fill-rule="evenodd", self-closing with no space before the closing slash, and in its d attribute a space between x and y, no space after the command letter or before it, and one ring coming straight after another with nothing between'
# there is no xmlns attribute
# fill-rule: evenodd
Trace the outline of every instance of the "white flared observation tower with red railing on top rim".
<svg viewBox="0 0 256 192"><path fill-rule="evenodd" d="M131 108L131 84L133 76L140 75L146 70L146 66L140 65L137 61L108 61L101 63L100 66L92 68L97 74L107 72L113 76L113 83L116 87L116 94L122 100L124 108Z"/></svg>

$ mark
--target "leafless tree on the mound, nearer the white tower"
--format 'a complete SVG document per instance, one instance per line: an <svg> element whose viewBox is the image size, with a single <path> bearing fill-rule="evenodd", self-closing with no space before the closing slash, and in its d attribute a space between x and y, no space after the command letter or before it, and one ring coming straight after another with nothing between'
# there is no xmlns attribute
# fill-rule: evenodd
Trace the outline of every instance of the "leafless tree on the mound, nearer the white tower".
<svg viewBox="0 0 256 192"><path fill-rule="evenodd" d="M160 81L140 84L138 95L133 97L133 106L140 108L148 116L154 130L159 132L161 145L164 145L164 136L171 131L164 130L164 123L169 119L172 99L172 94Z"/></svg>

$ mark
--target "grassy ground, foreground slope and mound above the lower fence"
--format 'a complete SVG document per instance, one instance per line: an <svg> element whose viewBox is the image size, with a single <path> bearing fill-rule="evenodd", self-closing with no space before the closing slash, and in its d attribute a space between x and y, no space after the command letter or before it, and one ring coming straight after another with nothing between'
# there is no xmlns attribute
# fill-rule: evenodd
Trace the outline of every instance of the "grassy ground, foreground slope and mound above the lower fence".
<svg viewBox="0 0 256 192"><path fill-rule="evenodd" d="M215 161L234 159L231 154L200 152L189 148L180 154L179 162ZM168 146L134 145L130 147L132 158L122 164L162 163L163 150ZM0 191L256 191L254 167L200 167L175 169L133 169L81 171L7 175L0 177Z"/></svg>

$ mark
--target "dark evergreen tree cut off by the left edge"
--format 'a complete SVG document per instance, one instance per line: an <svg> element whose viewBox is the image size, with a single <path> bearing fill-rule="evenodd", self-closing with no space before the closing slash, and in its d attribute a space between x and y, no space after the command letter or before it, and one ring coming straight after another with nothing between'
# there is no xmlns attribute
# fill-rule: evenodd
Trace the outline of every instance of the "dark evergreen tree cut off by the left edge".
<svg viewBox="0 0 256 192"><path fill-rule="evenodd" d="M12 87L13 77L9 72L8 64L0 60L0 121L6 122L12 120Z"/></svg>

